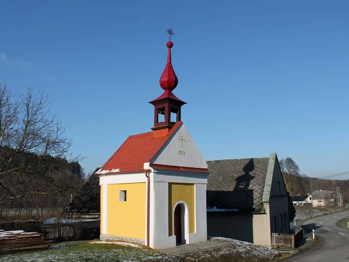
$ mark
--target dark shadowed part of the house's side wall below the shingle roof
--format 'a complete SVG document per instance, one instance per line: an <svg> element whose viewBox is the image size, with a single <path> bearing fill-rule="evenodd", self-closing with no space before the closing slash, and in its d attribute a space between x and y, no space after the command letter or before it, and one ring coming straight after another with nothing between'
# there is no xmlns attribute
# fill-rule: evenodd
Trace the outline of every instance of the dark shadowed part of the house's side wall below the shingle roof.
<svg viewBox="0 0 349 262"><path fill-rule="evenodd" d="M207 235L253 243L253 215L207 212Z"/></svg>

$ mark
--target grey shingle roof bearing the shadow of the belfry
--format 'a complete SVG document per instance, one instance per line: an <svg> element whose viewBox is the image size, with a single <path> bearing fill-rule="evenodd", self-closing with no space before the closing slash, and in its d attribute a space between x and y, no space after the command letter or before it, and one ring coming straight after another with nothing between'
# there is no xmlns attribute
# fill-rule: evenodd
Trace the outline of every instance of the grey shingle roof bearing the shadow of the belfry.
<svg viewBox="0 0 349 262"><path fill-rule="evenodd" d="M206 161L207 208L264 211L262 198L269 157Z"/></svg>

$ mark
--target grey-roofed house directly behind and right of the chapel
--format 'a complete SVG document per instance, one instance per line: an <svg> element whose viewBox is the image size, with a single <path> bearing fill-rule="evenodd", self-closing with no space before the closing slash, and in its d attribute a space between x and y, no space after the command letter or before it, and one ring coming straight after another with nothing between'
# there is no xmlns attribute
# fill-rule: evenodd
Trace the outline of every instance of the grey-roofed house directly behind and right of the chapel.
<svg viewBox="0 0 349 262"><path fill-rule="evenodd" d="M276 153L207 161L207 235L271 246L289 233L288 198Z"/></svg>

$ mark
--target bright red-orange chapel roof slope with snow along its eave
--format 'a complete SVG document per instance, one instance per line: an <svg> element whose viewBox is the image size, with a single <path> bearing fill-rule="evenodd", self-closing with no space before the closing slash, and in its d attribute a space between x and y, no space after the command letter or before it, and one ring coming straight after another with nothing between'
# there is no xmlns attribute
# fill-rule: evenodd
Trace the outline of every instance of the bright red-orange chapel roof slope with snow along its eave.
<svg viewBox="0 0 349 262"><path fill-rule="evenodd" d="M100 170L119 169L119 172L143 170L144 163L149 162L155 156L181 123L182 121L177 122L170 130L162 129L129 136ZM106 174L119 172L107 172Z"/></svg>

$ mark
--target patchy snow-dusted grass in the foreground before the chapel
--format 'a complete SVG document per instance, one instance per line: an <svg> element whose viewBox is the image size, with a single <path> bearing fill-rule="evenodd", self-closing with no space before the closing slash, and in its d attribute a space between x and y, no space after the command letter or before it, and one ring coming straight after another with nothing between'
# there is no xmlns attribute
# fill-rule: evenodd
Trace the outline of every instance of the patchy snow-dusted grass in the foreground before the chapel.
<svg viewBox="0 0 349 262"><path fill-rule="evenodd" d="M228 240L231 246L211 249L207 252L177 256L147 248L135 248L116 244L90 244L91 241L57 243L48 250L0 255L0 262L248 262L276 261L290 255L263 246L237 240Z"/></svg>

